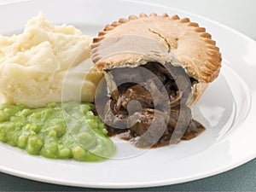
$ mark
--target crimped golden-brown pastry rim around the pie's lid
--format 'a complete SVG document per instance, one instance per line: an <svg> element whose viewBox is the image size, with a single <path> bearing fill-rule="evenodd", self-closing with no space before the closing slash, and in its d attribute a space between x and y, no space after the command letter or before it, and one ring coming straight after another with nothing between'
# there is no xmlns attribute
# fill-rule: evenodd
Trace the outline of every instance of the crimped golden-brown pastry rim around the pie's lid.
<svg viewBox="0 0 256 192"><path fill-rule="evenodd" d="M201 36L201 38L204 39L204 42L207 44L207 55L208 58L204 62L205 69L201 72L201 74L193 68L191 68L189 61L184 60L181 58L179 61L181 61L182 67L185 68L186 72L189 73L190 77L193 77L194 79L197 79L199 82L203 83L210 83L214 79L218 77L218 73L221 67L221 54L219 53L218 47L215 45L215 41L212 40L211 35L206 32L206 29L203 27L200 27L195 22L190 22L189 18L183 18L180 19L177 15L173 15L172 17L169 17L169 15L156 15L156 14L141 14L138 17L136 15L130 15L128 19L119 19L118 21L114 21L111 25L105 26L103 32L98 33L98 37L93 39L93 44L91 46L92 49L92 59L96 63L96 67L100 70L102 69L111 69L113 67L133 67L133 65L140 61L143 63L143 59L140 56L137 55L130 55L131 57L129 59L122 59L124 55L119 55L115 59L103 59L101 55L98 54L97 49L99 48L102 39L105 38L106 34L108 34L109 31L114 30L116 27L120 25L124 25L125 23L131 21L131 20L139 20L140 18L147 18L147 17L162 17L162 18L168 18L170 20L177 20L182 25L187 25L189 27L194 27L194 31L198 32ZM128 55L125 55L127 57Z"/></svg>

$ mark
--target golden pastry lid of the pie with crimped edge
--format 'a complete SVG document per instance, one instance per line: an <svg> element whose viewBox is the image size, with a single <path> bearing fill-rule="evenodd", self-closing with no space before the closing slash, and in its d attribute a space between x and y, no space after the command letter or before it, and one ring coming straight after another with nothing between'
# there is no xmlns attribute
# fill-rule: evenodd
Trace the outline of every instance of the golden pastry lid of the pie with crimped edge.
<svg viewBox="0 0 256 192"><path fill-rule="evenodd" d="M206 29L177 15L141 14L120 19L99 32L91 48L92 60L101 70L174 61L204 83L218 77L222 60Z"/></svg>

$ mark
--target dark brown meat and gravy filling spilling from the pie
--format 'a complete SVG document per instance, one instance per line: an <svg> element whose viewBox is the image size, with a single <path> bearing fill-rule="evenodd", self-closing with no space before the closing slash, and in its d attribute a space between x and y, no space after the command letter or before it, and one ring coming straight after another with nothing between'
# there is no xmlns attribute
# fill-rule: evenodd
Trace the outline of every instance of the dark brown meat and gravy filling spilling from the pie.
<svg viewBox="0 0 256 192"><path fill-rule="evenodd" d="M112 94L103 117L108 136L129 140L138 148L157 148L205 130L186 106L192 85L198 82L182 67L148 62L106 73L116 87L109 88Z"/></svg>

